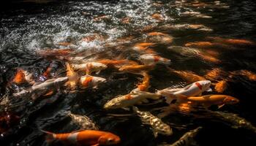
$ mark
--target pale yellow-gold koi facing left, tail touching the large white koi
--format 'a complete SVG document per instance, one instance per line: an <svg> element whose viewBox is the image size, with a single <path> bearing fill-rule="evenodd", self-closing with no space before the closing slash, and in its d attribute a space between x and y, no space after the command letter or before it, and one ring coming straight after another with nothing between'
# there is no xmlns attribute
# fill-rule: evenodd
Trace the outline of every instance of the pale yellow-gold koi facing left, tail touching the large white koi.
<svg viewBox="0 0 256 146"><path fill-rule="evenodd" d="M133 90L127 95L117 96L114 99L108 101L105 105L105 109L118 109L123 107L130 107L135 104L141 104L142 102L148 102L147 99L159 99L158 93L149 93L146 91Z"/></svg>

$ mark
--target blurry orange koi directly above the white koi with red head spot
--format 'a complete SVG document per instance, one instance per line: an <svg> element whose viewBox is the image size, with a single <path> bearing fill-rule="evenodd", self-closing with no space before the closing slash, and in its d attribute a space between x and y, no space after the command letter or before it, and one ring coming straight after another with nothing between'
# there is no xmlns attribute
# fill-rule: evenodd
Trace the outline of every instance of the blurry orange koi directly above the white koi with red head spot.
<svg viewBox="0 0 256 146"><path fill-rule="evenodd" d="M179 77L181 77L183 80L186 80L187 82L197 82L197 80L206 80L204 77L201 77L194 72L190 71L177 71L174 69L170 69L170 72L177 74Z"/></svg>

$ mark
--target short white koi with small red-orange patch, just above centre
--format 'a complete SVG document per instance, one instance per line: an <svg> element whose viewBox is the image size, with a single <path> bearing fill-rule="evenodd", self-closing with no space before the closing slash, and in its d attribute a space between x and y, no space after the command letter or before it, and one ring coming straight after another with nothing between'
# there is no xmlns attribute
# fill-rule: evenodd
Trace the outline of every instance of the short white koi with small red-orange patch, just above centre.
<svg viewBox="0 0 256 146"><path fill-rule="evenodd" d="M170 59L162 58L159 55L153 55L153 54L144 54L139 56L139 60L144 65L155 65L155 64L165 64L170 65Z"/></svg>

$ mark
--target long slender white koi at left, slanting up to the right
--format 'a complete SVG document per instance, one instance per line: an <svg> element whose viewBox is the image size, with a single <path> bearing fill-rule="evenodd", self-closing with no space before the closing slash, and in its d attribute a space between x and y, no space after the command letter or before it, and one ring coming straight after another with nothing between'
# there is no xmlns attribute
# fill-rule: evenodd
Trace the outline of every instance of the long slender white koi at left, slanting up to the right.
<svg viewBox="0 0 256 146"><path fill-rule="evenodd" d="M20 91L18 93L13 93L13 96L42 96L45 93L56 90L61 85L67 82L68 77L59 77L56 79L46 80L38 85L33 85L28 90Z"/></svg>

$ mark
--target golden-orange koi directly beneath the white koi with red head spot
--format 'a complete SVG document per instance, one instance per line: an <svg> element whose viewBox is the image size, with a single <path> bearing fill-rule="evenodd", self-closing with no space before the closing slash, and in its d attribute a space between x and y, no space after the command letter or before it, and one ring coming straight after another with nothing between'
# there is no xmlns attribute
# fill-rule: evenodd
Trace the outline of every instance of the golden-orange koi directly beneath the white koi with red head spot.
<svg viewBox="0 0 256 146"><path fill-rule="evenodd" d="M218 105L219 108L223 107L225 104L237 104L239 102L235 97L227 95L191 96L187 98L187 101L191 101L195 104L203 104L205 107Z"/></svg>

